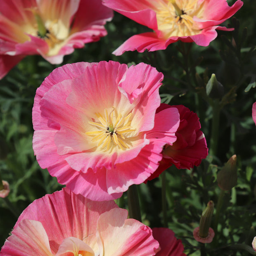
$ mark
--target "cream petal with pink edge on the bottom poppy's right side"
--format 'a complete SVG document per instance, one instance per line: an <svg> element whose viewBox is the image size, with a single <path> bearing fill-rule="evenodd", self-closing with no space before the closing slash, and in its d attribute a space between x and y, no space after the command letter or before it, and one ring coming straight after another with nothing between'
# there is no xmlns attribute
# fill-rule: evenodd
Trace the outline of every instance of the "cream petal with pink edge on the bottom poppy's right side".
<svg viewBox="0 0 256 256"><path fill-rule="evenodd" d="M126 219L124 209L102 213L97 223L100 255L151 256L158 249L152 230L134 219Z"/></svg>

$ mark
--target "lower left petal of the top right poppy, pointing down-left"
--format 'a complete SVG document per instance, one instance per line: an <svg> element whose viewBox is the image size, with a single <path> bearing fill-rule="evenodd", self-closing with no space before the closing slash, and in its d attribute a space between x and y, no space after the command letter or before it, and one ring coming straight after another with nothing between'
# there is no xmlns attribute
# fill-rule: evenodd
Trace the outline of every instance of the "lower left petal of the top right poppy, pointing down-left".
<svg viewBox="0 0 256 256"><path fill-rule="evenodd" d="M149 52L156 50L165 50L166 40L158 38L156 33L147 32L139 35L135 35L127 39L122 45L120 45L116 50L114 50L114 55L122 55L126 51L144 52L148 50Z"/></svg>

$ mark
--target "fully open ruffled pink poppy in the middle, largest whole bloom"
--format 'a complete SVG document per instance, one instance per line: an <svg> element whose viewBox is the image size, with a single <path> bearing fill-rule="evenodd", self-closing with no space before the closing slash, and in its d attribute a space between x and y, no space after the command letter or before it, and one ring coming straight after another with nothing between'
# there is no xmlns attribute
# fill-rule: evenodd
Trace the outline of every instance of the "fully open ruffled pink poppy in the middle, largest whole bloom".
<svg viewBox="0 0 256 256"><path fill-rule="evenodd" d="M33 149L39 165L76 194L121 197L159 166L172 145L178 109L156 114L163 74L150 65L74 63L55 69L36 91Z"/></svg>

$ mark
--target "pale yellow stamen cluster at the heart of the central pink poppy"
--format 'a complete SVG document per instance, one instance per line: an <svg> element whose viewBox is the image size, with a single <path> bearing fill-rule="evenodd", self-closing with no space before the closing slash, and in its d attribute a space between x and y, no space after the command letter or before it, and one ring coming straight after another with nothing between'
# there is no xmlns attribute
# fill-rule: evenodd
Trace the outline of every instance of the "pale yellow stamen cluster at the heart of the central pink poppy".
<svg viewBox="0 0 256 256"><path fill-rule="evenodd" d="M97 147L103 151L112 150L114 147L122 150L130 148L127 137L135 131L130 126L132 113L122 116L118 114L115 107L112 107L110 112L104 109L104 116L100 113L96 113L96 116L98 122L94 120L88 123L97 130L88 131L85 134L92 136L92 142L96 142Z"/></svg>

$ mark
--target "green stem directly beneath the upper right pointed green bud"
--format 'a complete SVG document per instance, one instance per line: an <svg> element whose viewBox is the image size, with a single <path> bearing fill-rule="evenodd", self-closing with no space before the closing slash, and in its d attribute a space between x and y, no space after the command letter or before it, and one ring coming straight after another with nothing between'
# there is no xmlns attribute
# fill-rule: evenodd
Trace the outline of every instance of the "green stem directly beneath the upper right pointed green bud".
<svg viewBox="0 0 256 256"><path fill-rule="evenodd" d="M211 140L210 140L210 152L212 156L216 156L218 149L219 138L219 125L220 125L220 105L218 100L214 100L211 104L213 111L213 119L211 124Z"/></svg>

